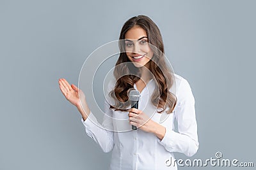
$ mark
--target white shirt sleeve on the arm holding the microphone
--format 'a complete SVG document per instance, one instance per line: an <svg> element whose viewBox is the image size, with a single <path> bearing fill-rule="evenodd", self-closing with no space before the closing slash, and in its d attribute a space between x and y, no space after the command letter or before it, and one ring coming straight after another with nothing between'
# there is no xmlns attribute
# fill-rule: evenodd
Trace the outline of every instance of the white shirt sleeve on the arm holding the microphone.
<svg viewBox="0 0 256 170"><path fill-rule="evenodd" d="M169 152L180 152L193 156L198 150L195 99L187 80L180 81L177 90L177 106L174 110L178 132L166 128L166 134L159 143Z"/></svg>

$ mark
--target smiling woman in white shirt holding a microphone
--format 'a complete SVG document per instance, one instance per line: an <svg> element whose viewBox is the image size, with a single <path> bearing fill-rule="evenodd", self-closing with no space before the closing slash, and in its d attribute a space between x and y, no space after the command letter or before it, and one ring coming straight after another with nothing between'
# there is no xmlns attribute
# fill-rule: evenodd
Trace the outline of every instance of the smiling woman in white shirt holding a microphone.
<svg viewBox="0 0 256 170"><path fill-rule="evenodd" d="M112 151L110 169L177 169L173 152L190 157L198 150L195 99L189 83L181 76L172 74L166 66L163 39L150 18L139 15L127 20L119 39L124 39L120 41L120 49L124 48L125 52L120 53L116 66L124 65L115 67L116 83L109 84L108 92L116 102L109 104L105 101L108 118L104 117L106 121L102 125L93 116L80 89L61 78L61 92L81 113L88 136L104 152ZM126 64L128 62L132 62L132 66ZM170 90L174 85L175 94ZM129 109L127 105L128 92L132 88L141 93L138 109ZM168 117L161 121L163 114ZM134 125L138 129L124 131L127 129L125 122L120 125L109 118L127 118L129 127ZM178 132L173 131L175 119Z"/></svg>

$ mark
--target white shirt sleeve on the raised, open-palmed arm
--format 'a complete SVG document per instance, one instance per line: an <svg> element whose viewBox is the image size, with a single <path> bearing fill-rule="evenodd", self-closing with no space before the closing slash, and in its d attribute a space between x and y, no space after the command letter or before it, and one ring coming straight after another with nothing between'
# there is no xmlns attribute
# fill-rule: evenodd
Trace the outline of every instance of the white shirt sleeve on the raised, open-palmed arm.
<svg viewBox="0 0 256 170"><path fill-rule="evenodd" d="M100 148L102 148L103 152L110 152L113 150L114 146L114 132L109 131L109 129L113 129L113 122L112 122L112 110L109 109L109 104L105 100L104 102L104 118L102 125L99 124L97 118L93 115L92 111L88 118L83 121L83 125L85 127L86 134L90 136L97 144L99 144Z"/></svg>

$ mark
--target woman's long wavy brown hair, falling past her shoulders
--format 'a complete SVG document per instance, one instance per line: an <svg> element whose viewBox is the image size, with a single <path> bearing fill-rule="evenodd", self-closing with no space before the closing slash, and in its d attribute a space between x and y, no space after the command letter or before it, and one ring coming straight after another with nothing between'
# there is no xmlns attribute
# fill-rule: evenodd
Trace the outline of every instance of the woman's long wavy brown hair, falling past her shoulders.
<svg viewBox="0 0 256 170"><path fill-rule="evenodd" d="M158 51L160 51L159 53L156 50L153 50L153 57L155 57L154 62L150 60L150 66L148 68L154 76L154 81L157 87L159 87L159 89L156 88L154 90L151 102L156 106L156 108L161 108L161 111L157 111L158 113L162 113L166 110L166 106L170 108L166 113L172 113L177 103L177 97L172 94L169 89L175 81L172 72L164 60L164 45L161 33L157 25L149 17L145 15L138 15L137 17L132 17L125 22L120 32L119 39L125 39L125 33L134 26L139 26L144 29L147 32L148 43L155 46ZM119 44L119 46L120 50L122 50L122 44ZM140 69L133 66L133 64L125 64L125 62L128 63L131 61L128 59L125 52L121 52L115 66L118 66L118 64L123 64L123 66L115 67L115 88L109 92L109 96L115 99L115 106L111 105L110 108L120 111L127 111L125 108L128 106L128 91L129 89L134 88L134 83L136 83L136 81L140 80L140 73L136 73L140 72ZM161 68L159 66L161 66ZM139 76L134 75L134 73ZM118 101L116 99L118 99Z"/></svg>

